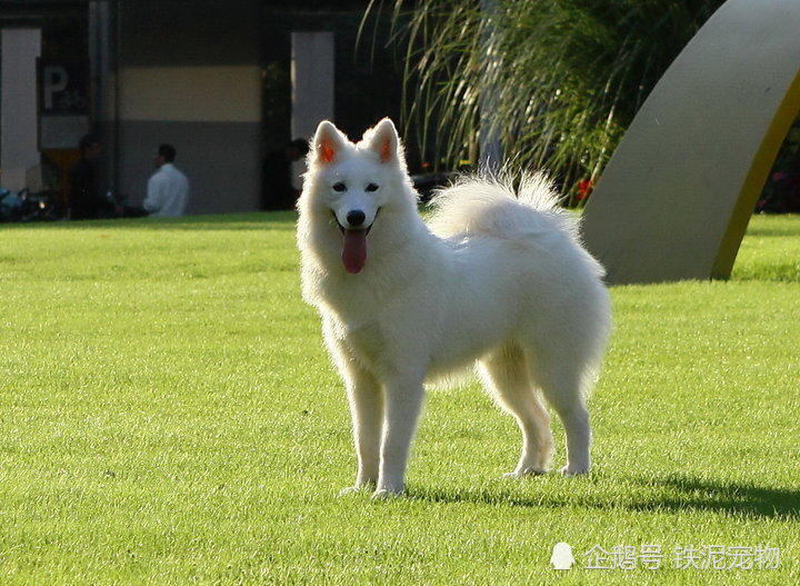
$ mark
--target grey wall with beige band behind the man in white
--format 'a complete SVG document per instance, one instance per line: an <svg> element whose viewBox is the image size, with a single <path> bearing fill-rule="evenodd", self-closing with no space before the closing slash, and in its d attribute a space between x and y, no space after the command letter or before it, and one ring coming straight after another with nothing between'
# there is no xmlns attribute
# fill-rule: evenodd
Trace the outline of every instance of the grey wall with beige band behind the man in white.
<svg viewBox="0 0 800 586"><path fill-rule="evenodd" d="M119 190L141 201L159 143L178 150L188 212L258 209L261 199L257 0L123 0Z"/></svg>

